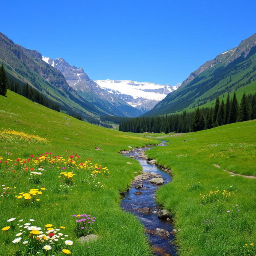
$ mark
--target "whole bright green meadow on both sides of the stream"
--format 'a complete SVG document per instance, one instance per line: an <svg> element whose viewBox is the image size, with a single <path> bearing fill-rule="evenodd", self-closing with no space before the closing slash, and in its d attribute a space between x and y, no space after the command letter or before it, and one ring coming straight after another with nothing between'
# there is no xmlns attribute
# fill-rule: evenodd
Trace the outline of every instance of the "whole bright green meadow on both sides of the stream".
<svg viewBox="0 0 256 256"><path fill-rule="evenodd" d="M144 227L120 208L120 193L130 186L141 166L118 152L129 146L158 144L159 136L165 136L162 140L167 140L168 146L146 154L171 169L173 181L159 188L157 200L170 210L174 227L180 230L174 239L178 255L256 254L256 179L225 171L256 176L256 120L169 134L172 137L132 134L82 122L8 91L7 98L0 96L0 124L2 135L4 129L17 133L0 137L0 228L11 226L7 231L0 230L0 255L27 255L17 254L19 246L23 248L25 233L20 243L12 240L24 230L19 226L30 219L34 220L31 225L42 230L46 224L65 227L60 231L74 244L62 248L74 256L152 255ZM42 139L26 140L20 138L20 132ZM42 160L45 156L56 158L54 162ZM80 163L92 163L94 168L81 168ZM40 180L33 180L31 171L41 172ZM66 184L60 174L68 171L75 174L71 184ZM39 201L26 204L24 198L16 197L30 189L42 192ZM97 241L78 242L74 214L96 217L91 233L98 236ZM10 218L16 219L7 222ZM20 219L24 221L18 222ZM65 253L42 250L34 255Z"/></svg>

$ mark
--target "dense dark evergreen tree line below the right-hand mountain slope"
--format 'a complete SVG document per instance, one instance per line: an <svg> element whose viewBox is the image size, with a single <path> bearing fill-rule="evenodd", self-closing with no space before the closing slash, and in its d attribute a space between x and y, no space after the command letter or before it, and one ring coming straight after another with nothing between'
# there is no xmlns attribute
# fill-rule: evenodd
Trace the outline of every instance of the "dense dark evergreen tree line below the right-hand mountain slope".
<svg viewBox="0 0 256 256"><path fill-rule="evenodd" d="M256 94L244 93L238 104L236 93L232 99L228 93L226 102L216 98L214 108L197 108L193 112L165 116L126 118L120 122L123 132L196 132L224 124L256 119Z"/></svg>

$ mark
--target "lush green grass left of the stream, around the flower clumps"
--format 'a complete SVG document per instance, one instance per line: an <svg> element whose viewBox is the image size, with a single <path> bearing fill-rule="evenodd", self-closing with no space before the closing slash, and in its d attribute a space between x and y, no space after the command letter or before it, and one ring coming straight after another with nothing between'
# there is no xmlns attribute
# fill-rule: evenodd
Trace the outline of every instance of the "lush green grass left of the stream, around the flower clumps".
<svg viewBox="0 0 256 256"><path fill-rule="evenodd" d="M130 186L134 171L141 170L141 166L136 160L124 158L118 152L128 149L128 146L156 144L159 140L82 122L32 103L10 91L7 98L0 96L0 123L0 128L36 134L50 140L48 145L21 143L18 139L13 142L0 142L0 156L4 160L27 159L30 154L38 156L45 152L66 158L77 153L80 162L91 158L93 163L107 166L110 172L108 178L106 175L98 175L96 178L97 182L106 186L105 190L90 191L90 186L82 183L82 179L90 172L76 169L74 185L66 190L60 190L63 183L58 178L61 170L57 168L57 164L44 164L43 168L47 171L43 172L41 184L32 184L28 180L29 171L21 172L13 165L2 164L0 185L16 187L12 189L12 195L15 195L14 192L26 192L31 188L45 187L46 190L40 196L38 205L32 207L21 206L20 201L14 196L0 197L1 228L7 226L6 220L12 217L16 217L17 220L22 218L26 222L32 218L36 220L35 225L41 227L49 223L56 227L65 226L65 233L74 240L74 245L70 247L72 255L150 255L150 246L143 234L143 226L132 214L123 212L120 208L120 191ZM95 150L95 147L102 150ZM12 172L13 170L16 172ZM100 236L97 242L83 246L77 242L74 220L71 217L72 214L82 213L96 216L94 234ZM6 244L6 234L1 230L0 232L0 255L14 255L18 245ZM18 230L10 232L12 238L16 233ZM90 249L87 246L90 246Z"/></svg>

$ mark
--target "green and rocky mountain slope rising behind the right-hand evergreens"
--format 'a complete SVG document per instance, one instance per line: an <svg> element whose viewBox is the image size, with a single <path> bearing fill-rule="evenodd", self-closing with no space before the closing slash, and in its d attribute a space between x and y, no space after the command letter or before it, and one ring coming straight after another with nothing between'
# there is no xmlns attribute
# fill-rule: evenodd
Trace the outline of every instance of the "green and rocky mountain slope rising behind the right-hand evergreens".
<svg viewBox="0 0 256 256"><path fill-rule="evenodd" d="M192 72L178 90L171 92L145 116L168 114L211 104L216 96L238 90L256 88L256 34L243 40L238 47L223 52Z"/></svg>

